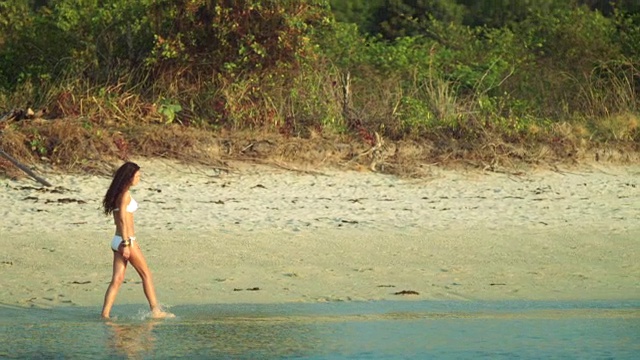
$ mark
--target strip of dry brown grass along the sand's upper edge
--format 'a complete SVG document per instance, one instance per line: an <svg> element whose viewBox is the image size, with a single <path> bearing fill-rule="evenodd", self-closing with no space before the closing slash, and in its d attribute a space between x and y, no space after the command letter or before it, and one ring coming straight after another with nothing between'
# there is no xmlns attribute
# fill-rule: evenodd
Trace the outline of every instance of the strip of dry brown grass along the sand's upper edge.
<svg viewBox="0 0 640 360"><path fill-rule="evenodd" d="M619 120L620 126L627 133L637 131L634 119L625 117ZM633 161L640 150L633 141L590 142L583 126L569 123L558 123L537 138L547 141L508 142L487 131L473 133L475 142L439 134L423 140L384 139L377 154L370 151L369 139L315 131L300 138L275 131L214 132L178 124L99 127L79 118L5 122L0 131L2 149L23 163L101 174L109 173L114 161L163 157L224 168L234 161L303 170L329 167L370 171L373 167L378 172L421 177L429 174L432 165L513 172L544 164ZM9 177L23 176L7 161L0 161L0 172Z"/></svg>

